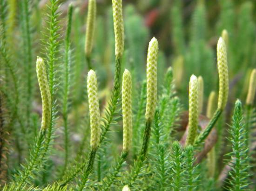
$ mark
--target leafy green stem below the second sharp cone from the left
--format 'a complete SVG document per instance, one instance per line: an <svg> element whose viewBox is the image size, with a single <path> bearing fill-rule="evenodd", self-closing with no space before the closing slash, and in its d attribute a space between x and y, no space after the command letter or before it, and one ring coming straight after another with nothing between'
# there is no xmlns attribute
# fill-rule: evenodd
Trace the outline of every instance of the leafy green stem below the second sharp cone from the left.
<svg viewBox="0 0 256 191"><path fill-rule="evenodd" d="M83 172L83 176L81 178L81 182L79 184L79 188L78 188L78 191L82 191L87 180L88 180L88 176L90 175L90 173L92 172L93 170L93 166L94 166L94 158L95 158L95 155L96 155L96 151L97 151L97 148L91 148L90 149L90 152L89 152L89 155L88 155L88 159L87 159L87 163L86 163L86 167L85 167L85 170Z"/></svg>

